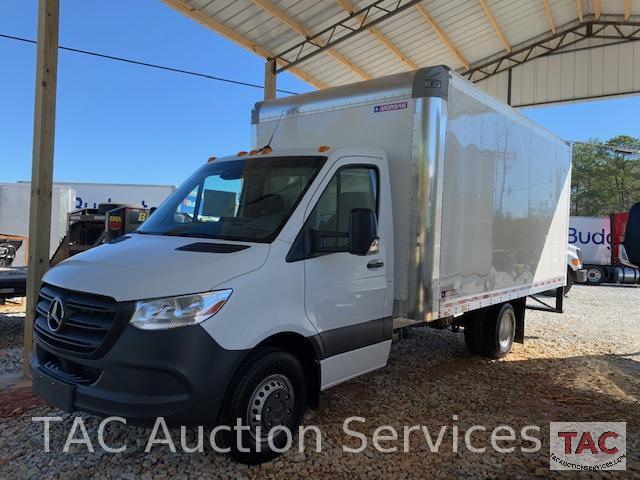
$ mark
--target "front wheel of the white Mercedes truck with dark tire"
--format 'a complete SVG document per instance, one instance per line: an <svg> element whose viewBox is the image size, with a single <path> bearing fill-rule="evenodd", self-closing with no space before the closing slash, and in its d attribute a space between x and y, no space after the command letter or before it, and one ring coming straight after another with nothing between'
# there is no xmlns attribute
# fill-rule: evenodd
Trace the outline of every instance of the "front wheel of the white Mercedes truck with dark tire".
<svg viewBox="0 0 640 480"><path fill-rule="evenodd" d="M240 367L229 389L222 424L232 431L225 435L225 444L238 462L256 465L267 462L281 452L289 437L295 436L302 422L306 405L303 368L296 357L279 349L259 350L250 355ZM243 427L238 442L234 429ZM249 451L242 451L249 450Z"/></svg>

